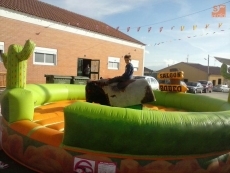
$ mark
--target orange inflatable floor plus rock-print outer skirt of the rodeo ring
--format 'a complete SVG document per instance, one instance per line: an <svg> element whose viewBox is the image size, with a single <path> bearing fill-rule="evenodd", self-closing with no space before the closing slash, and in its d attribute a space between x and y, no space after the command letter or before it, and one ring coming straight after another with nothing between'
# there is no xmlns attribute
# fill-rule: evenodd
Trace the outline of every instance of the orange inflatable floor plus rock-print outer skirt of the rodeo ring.
<svg viewBox="0 0 230 173"><path fill-rule="evenodd" d="M9 124L3 119L3 150L12 159L37 172L71 173L77 169L92 170L92 173L102 170L105 173L230 172L229 151L187 156L135 156L63 146L63 108L73 102L61 101L38 107L33 121ZM178 111L148 104L143 106L156 111Z"/></svg>

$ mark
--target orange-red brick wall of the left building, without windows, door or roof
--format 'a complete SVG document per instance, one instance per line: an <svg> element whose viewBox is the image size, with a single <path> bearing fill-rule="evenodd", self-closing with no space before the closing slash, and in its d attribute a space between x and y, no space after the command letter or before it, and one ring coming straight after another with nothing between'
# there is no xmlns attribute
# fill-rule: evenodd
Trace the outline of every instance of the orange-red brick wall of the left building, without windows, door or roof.
<svg viewBox="0 0 230 173"><path fill-rule="evenodd" d="M84 58L84 55L88 59L100 59L100 76L108 78L121 75L124 72L125 63L122 56L130 53L132 59L139 60L139 69L134 74L142 74L143 49L3 17L0 17L0 28L0 42L4 42L5 52L9 45L24 45L27 39L33 40L38 47L57 49L56 66L35 65L32 56L28 59L27 83L45 83L45 74L76 76L77 59ZM107 68L109 56L121 58L119 70ZM3 63L0 63L0 72L4 71L6 69Z"/></svg>

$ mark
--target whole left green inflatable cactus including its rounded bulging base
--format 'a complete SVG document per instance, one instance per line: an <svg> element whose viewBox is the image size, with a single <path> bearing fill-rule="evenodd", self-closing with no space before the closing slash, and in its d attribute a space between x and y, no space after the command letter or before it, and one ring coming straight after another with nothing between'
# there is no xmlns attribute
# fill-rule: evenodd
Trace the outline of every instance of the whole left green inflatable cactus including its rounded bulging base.
<svg viewBox="0 0 230 173"><path fill-rule="evenodd" d="M25 45L12 44L2 54L6 74L6 89L1 94L1 114L9 123L33 119L33 95L26 90L27 59L34 51L35 43L27 40Z"/></svg>

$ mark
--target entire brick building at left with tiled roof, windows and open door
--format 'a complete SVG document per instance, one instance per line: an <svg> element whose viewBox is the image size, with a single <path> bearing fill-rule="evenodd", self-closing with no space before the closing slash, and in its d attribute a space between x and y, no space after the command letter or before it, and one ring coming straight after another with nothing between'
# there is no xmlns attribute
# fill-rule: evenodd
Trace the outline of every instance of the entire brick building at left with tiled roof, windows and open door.
<svg viewBox="0 0 230 173"><path fill-rule="evenodd" d="M135 75L144 69L145 44L111 26L37 0L0 0L0 52L11 44L36 43L28 59L27 83L45 83L45 74L91 79L121 75L131 54ZM6 72L0 63L0 72Z"/></svg>

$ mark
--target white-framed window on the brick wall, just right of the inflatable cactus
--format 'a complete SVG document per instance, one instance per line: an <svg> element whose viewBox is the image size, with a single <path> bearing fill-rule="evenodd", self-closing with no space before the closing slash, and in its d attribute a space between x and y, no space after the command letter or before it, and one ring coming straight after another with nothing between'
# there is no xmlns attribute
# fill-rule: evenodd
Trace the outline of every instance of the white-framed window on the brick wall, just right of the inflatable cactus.
<svg viewBox="0 0 230 173"><path fill-rule="evenodd" d="M33 62L39 65L57 65L57 49L36 47Z"/></svg>

